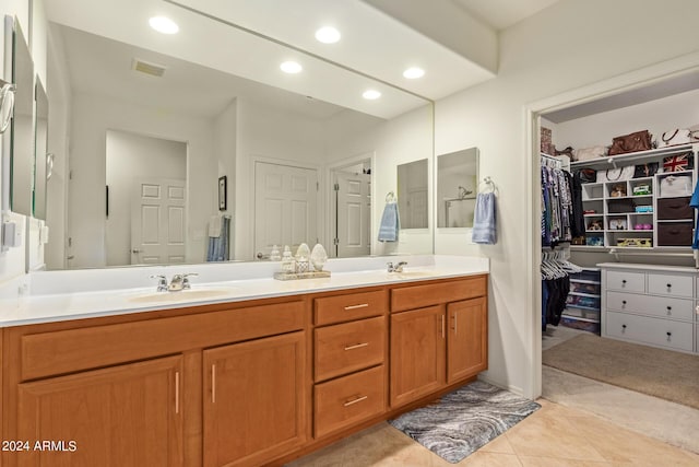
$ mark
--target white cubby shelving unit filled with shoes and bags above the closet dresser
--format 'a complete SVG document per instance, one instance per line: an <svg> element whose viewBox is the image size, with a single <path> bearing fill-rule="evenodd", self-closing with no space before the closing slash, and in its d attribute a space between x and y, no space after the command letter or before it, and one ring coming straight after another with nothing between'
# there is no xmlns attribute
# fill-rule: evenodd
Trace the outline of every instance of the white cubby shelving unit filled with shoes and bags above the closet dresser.
<svg viewBox="0 0 699 467"><path fill-rule="evenodd" d="M689 199L697 180L698 150L699 144L680 145L572 163L573 172L594 168L604 174L601 182L582 186L585 246L579 248L690 247L695 210ZM663 161L674 156L687 160L687 168L663 172ZM657 163L660 173L606 180L609 168L648 163Z"/></svg>

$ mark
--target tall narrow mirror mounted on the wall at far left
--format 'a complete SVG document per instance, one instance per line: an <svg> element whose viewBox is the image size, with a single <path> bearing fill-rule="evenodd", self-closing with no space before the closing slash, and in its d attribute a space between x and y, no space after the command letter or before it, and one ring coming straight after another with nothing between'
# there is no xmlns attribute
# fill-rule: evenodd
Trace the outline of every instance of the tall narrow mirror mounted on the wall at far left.
<svg viewBox="0 0 699 467"><path fill-rule="evenodd" d="M12 34L12 82L14 117L10 133L10 208L32 215L34 190L34 63L19 21Z"/></svg>

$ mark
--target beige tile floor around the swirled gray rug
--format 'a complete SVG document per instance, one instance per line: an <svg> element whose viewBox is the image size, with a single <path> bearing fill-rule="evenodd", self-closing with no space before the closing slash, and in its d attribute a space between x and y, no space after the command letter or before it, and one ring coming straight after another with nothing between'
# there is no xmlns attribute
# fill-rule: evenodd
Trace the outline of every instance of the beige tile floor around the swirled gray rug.
<svg viewBox="0 0 699 467"><path fill-rule="evenodd" d="M548 336L548 340L553 339L557 343L570 335L564 330L558 332L558 336ZM544 347L550 343L547 343L546 340L545 336ZM564 373L564 375L568 374ZM633 425L633 417L629 418L630 423L625 423L625 420L615 420L615 417L611 420L604 415L594 413L595 407L593 410L588 410L590 407L584 402L571 406L569 402L580 396L576 395L574 390L571 395L571 392L560 389L560 387L567 387L570 384L566 381L566 376L552 376L545 372L545 397L547 378L553 378L549 384L553 386L553 390L552 388L548 390L550 397L554 399L562 398L560 394L565 393L569 400L558 404L544 398L538 399L537 401L542 405L540 410L459 464L449 464L388 423L380 423L317 453L301 457L288 464L287 467L699 466L699 454L667 444L661 441L662 435L656 436L665 431L686 431L688 437L696 437L699 425L694 424L694 428L690 428L695 422L695 419L691 418L694 413L690 413L690 418L686 421L686 430L677 430L677 427L673 427L672 420L668 419L667 421L661 420L661 428L655 433L653 430L649 430L649 427L641 425L639 429ZM587 378L580 380L590 382ZM581 382L577 381L573 385L580 387ZM582 384L582 387L584 386L585 384ZM617 389L611 387L607 390ZM625 393L630 392L625 390ZM627 396L628 394L616 395L615 400L624 399ZM636 407L636 410L641 409ZM652 420L653 416L650 417ZM650 424L652 425L652 422ZM654 437L642 434L643 432L650 432ZM683 445L677 442L673 444ZM695 445L699 445L699 443L695 443ZM688 447L695 451L695 445Z"/></svg>

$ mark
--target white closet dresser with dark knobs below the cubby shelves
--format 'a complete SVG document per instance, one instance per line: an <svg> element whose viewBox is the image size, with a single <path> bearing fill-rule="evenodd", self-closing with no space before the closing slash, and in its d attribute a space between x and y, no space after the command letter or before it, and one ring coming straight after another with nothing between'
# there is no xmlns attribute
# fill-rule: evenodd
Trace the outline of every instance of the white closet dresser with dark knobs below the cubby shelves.
<svg viewBox="0 0 699 467"><path fill-rule="evenodd" d="M603 262L602 337L699 353L699 271Z"/></svg>

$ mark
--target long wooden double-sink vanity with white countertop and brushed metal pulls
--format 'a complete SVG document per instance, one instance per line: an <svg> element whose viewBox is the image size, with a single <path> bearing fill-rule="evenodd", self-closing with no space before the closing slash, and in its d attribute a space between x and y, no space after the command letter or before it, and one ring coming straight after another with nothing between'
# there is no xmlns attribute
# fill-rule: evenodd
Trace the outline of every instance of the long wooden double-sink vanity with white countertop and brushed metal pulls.
<svg viewBox="0 0 699 467"><path fill-rule="evenodd" d="M29 448L3 465L281 465L487 367L487 259L339 259L297 281L273 267L32 275L1 334L2 439ZM143 287L170 271L199 276Z"/></svg>

